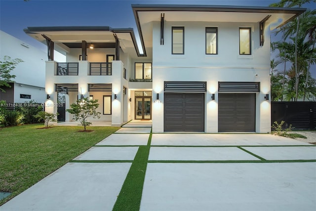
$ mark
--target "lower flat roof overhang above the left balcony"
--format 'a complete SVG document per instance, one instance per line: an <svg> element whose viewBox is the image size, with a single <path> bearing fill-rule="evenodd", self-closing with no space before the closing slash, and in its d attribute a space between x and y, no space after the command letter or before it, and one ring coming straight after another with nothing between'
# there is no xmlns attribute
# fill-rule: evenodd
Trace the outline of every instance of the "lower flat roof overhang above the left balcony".
<svg viewBox="0 0 316 211"><path fill-rule="evenodd" d="M94 43L96 47L115 46L116 35L123 50L143 56L139 52L135 34L132 28L112 29L108 26L54 26L54 27L27 27L24 32L32 38L46 44L46 36L55 43L58 51L69 51L70 48L79 47L82 41ZM132 50L133 49L133 50ZM133 51L133 52L131 52Z"/></svg>

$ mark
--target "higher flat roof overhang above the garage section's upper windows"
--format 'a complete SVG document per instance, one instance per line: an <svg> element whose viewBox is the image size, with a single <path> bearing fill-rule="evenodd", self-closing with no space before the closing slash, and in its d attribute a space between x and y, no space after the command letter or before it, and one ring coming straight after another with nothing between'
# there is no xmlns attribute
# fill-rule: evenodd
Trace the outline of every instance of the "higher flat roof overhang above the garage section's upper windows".
<svg viewBox="0 0 316 211"><path fill-rule="evenodd" d="M222 5L150 5L132 4L136 25L142 45L152 47L153 21L160 22L164 13L165 21L174 22L244 22L259 23L268 15L266 21L270 30L279 28L306 11L305 8L222 6ZM145 47L143 47L145 48ZM146 51L144 51L146 54Z"/></svg>

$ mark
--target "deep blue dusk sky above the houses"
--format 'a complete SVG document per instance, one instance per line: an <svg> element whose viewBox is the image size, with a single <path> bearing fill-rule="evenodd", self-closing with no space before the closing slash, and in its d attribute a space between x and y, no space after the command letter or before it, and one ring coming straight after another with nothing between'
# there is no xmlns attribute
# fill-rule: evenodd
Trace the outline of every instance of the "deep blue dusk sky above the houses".
<svg viewBox="0 0 316 211"><path fill-rule="evenodd" d="M0 30L46 51L46 46L23 32L34 26L110 26L133 28L131 4L201 4L269 6L279 0L0 0ZM305 4L316 9L316 3ZM272 35L272 41L276 41ZM315 71L315 70L314 70Z"/></svg>

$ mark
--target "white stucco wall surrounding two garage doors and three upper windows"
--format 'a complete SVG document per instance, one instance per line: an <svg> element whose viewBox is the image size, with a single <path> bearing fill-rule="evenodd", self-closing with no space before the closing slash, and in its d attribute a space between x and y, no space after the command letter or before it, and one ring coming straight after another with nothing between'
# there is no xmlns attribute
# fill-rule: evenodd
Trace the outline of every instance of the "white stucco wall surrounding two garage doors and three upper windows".
<svg viewBox="0 0 316 211"><path fill-rule="evenodd" d="M171 54L171 27L185 27L184 55ZM218 54L205 54L205 27L218 27ZM251 27L251 55L239 55L239 27ZM256 94L256 132L270 132L270 33L259 46L258 23L165 22L164 45L160 45L160 22L153 23L153 132L163 132L164 81L207 82L205 132L218 132L218 82L260 82ZM269 29L267 26L266 29ZM211 100L211 94L215 100Z"/></svg>

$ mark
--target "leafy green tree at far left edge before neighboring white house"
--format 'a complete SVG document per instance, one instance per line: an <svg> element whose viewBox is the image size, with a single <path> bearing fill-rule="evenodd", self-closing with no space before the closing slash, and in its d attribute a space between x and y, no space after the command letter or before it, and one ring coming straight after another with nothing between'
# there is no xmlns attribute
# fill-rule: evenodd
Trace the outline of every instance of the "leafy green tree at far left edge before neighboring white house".
<svg viewBox="0 0 316 211"><path fill-rule="evenodd" d="M22 59L11 59L10 56L4 56L3 61L0 61L0 90L5 92L1 86L11 87L9 83L12 83L12 79L15 78L15 75L11 75L11 71L15 69L15 66L20 62L23 62Z"/></svg>

